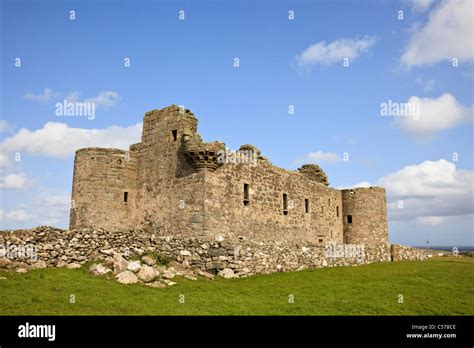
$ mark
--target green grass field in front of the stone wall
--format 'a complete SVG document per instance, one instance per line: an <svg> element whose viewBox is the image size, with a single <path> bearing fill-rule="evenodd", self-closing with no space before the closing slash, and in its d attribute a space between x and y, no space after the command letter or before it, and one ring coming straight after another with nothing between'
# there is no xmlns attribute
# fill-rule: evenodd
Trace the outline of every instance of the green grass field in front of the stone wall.
<svg viewBox="0 0 474 348"><path fill-rule="evenodd" d="M377 263L154 289L86 269L0 271L1 315L473 315L474 259ZM175 280L175 279L174 279ZM69 302L70 295L76 302ZM294 303L289 303L289 295ZM398 303L399 294L403 303ZM180 303L180 295L185 303Z"/></svg>

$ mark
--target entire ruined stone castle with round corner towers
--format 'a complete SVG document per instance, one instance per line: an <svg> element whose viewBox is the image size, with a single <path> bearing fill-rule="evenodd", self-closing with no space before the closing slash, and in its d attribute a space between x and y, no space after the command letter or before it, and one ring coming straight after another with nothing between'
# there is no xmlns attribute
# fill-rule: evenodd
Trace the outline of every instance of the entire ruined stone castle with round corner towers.
<svg viewBox="0 0 474 348"><path fill-rule="evenodd" d="M70 228L151 227L163 235L324 244L388 241L385 190L337 190L317 165L288 171L253 145L205 143L172 105L147 112L129 151L76 151Z"/></svg>

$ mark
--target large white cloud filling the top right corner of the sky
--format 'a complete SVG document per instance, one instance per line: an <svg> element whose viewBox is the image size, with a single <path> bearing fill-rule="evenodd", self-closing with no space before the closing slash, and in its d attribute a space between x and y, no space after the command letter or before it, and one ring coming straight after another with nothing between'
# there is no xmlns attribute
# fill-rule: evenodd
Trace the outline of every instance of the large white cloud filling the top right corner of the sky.
<svg viewBox="0 0 474 348"><path fill-rule="evenodd" d="M401 56L408 66L432 65L443 60L474 59L472 0L443 1L425 25L415 26Z"/></svg>

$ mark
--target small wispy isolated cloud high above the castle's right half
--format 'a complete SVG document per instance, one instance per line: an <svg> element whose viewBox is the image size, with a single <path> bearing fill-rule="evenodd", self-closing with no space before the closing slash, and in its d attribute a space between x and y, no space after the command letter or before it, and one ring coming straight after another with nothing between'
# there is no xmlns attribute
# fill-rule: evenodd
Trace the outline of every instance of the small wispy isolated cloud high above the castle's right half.
<svg viewBox="0 0 474 348"><path fill-rule="evenodd" d="M296 56L296 65L300 68L311 69L314 65L332 65L349 58L355 60L362 53L367 52L374 44L375 37L364 36L362 39L339 39L329 44L320 41L309 46Z"/></svg>

